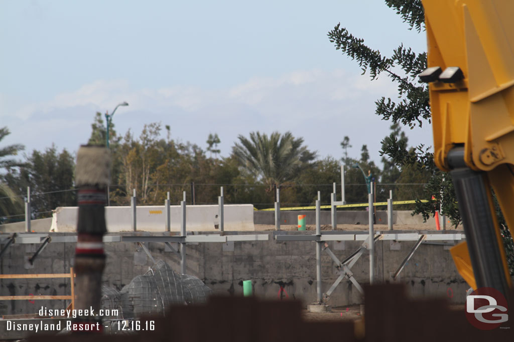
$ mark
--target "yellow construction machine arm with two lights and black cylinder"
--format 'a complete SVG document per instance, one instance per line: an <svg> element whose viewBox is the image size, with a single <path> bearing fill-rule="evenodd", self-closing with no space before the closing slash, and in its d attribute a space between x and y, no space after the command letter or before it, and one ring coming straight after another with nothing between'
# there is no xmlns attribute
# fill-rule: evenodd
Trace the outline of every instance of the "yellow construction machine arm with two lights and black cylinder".
<svg viewBox="0 0 514 342"><path fill-rule="evenodd" d="M506 296L491 189L514 236L514 1L422 2L428 69L419 76L429 83L434 159L452 175L467 239L452 255L470 286Z"/></svg>

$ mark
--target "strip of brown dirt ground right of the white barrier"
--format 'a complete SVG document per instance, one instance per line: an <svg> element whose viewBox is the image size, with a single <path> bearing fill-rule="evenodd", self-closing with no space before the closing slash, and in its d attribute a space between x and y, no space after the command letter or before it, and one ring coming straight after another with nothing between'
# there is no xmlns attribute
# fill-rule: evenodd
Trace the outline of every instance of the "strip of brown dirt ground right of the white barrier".
<svg viewBox="0 0 514 342"><path fill-rule="evenodd" d="M254 225L255 231L266 231L266 230L275 230L274 225ZM388 230L388 225L373 225L375 231L383 231L386 232ZM292 231L298 230L298 225L280 225L281 230ZM368 231L370 227L368 225L337 225L337 230L362 230ZM316 230L316 225L305 225L305 230ZM322 225L321 230L332 230L331 225ZM393 231L402 231L402 230L435 230L435 225L394 225ZM446 229L447 231L456 232L462 229Z"/></svg>

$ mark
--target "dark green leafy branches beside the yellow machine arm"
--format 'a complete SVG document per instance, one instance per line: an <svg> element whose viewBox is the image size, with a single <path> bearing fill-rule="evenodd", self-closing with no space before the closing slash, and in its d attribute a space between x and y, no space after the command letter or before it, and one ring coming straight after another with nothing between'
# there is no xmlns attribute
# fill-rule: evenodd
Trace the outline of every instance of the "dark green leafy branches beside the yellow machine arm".
<svg viewBox="0 0 514 342"><path fill-rule="evenodd" d="M423 6L420 0L386 0L386 5L396 10L404 22L407 22L410 29L418 32L424 29L425 17ZM393 124L401 123L411 129L424 123L430 123L430 103L428 87L421 83L417 75L427 67L427 53L415 53L411 48L402 44L393 51L390 57L382 56L380 51L373 50L364 44L364 39L355 37L346 28L336 25L328 32L329 40L335 44L336 50L344 55L355 59L363 73L369 72L371 79L376 79L384 73L391 78L398 87L398 100L381 97L376 101L376 114L382 119L391 119ZM458 211L454 210L455 196L450 175L445 174L435 166L433 154L429 148L420 145L407 149L406 139L394 132L382 140L381 155L387 155L392 162L400 167L412 167L416 170L428 172L431 175L427 193L435 195L436 203L416 203L415 213L421 213L425 218L435 213L437 203L442 202L443 212L450 216L452 223L456 226L460 222ZM443 183L443 177L446 182ZM440 197L444 186L449 186L446 191L447 197ZM446 189L448 190L448 189ZM430 199L430 198L427 198Z"/></svg>

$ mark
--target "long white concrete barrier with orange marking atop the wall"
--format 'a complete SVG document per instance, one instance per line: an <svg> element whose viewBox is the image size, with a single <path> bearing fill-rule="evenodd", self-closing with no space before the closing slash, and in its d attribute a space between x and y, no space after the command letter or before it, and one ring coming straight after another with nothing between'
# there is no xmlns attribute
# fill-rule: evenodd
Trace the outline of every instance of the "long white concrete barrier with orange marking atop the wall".
<svg viewBox="0 0 514 342"><path fill-rule="evenodd" d="M68 232L77 229L78 207L59 207L52 217L50 231ZM105 207L108 232L131 231L131 207ZM180 231L180 206L170 206L171 231ZM218 206L186 207L188 231L219 231ZM164 206L138 206L136 208L137 230L149 232L166 231ZM226 231L253 231L252 205L225 205L224 228Z"/></svg>

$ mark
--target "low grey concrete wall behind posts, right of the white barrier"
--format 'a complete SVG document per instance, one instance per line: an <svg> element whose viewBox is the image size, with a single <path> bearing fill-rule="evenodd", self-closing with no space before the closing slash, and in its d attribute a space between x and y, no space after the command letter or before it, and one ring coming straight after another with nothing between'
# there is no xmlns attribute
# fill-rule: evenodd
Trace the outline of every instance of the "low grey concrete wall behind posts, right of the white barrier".
<svg viewBox="0 0 514 342"><path fill-rule="evenodd" d="M282 210L280 212L280 220L282 225L298 224L298 215L305 216L306 225L316 224L316 212L314 210ZM330 210L322 210L320 212L321 225L331 225L332 216ZM388 217L386 211L377 210L375 212L376 224L387 225ZM339 225L368 225L368 211L365 210L338 210L337 223ZM274 211L254 211L253 223L255 225L274 225ZM427 222L423 222L423 216L414 215L410 210L393 211L393 225L429 225L435 227L435 220L430 217Z"/></svg>

